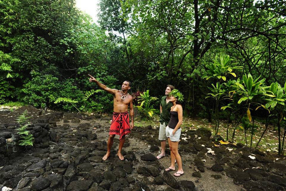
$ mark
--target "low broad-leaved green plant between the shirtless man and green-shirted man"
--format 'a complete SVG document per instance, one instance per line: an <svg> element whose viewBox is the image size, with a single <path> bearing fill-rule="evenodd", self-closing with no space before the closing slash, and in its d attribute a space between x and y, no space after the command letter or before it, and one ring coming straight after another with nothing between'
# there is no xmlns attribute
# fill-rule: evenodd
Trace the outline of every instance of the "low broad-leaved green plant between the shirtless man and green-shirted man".
<svg viewBox="0 0 286 191"><path fill-rule="evenodd" d="M153 104L151 104L153 101L158 100L157 97L151 97L149 95L149 90L146 92L140 93L140 96L138 96L138 103L140 104L139 106L135 106L138 108L140 112L143 113L143 115L148 118L152 117L154 115L154 109Z"/></svg>

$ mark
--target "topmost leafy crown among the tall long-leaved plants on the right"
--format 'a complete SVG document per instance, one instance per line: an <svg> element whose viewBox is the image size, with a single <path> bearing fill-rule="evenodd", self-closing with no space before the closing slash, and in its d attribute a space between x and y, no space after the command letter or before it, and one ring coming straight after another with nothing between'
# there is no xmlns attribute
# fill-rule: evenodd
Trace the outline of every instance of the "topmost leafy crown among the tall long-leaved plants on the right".
<svg viewBox="0 0 286 191"><path fill-rule="evenodd" d="M241 66L233 66L233 64L237 63L231 63L232 59L229 58L229 55L220 56L220 62L217 60L214 60L212 64L207 66L207 70L205 72L205 75L203 78L206 78L207 80L209 78L217 78L218 80L223 79L223 81L226 81L226 75L231 74L232 76L236 77L235 73L233 73L233 70L236 69L242 69Z"/></svg>

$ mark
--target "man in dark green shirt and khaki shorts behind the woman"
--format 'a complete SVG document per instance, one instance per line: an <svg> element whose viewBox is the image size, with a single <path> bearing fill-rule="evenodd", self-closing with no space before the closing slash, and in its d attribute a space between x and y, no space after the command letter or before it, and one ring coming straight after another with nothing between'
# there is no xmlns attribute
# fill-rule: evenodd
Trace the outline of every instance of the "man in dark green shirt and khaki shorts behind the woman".
<svg viewBox="0 0 286 191"><path fill-rule="evenodd" d="M160 129L159 129L159 140L161 141L161 154L157 156L157 159L160 159L165 156L165 148L166 148L166 126L170 121L170 110L173 106L172 102L169 101L170 96L169 93L174 90L175 87L172 85L167 85L165 90L165 96L161 99L160 104Z"/></svg>

